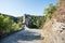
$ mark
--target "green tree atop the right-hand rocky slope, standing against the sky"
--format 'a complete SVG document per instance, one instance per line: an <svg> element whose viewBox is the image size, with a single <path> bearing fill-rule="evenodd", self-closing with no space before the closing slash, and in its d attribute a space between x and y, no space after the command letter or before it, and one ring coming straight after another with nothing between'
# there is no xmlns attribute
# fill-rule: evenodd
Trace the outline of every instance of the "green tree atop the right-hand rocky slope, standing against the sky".
<svg viewBox="0 0 65 43"><path fill-rule="evenodd" d="M53 13L55 12L56 10L56 6L53 5L52 3L44 10L44 13L46 13L46 17L47 18L51 18Z"/></svg>

